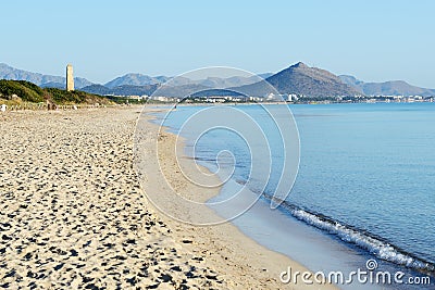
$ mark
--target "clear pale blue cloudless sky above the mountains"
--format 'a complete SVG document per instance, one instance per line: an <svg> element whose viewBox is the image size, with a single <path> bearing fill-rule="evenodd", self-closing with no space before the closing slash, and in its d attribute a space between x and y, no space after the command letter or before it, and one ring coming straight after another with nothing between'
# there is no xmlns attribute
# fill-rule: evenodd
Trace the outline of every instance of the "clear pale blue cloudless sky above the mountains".
<svg viewBox="0 0 435 290"><path fill-rule="evenodd" d="M298 61L366 81L435 88L435 1L3 1L0 62L105 83Z"/></svg>

